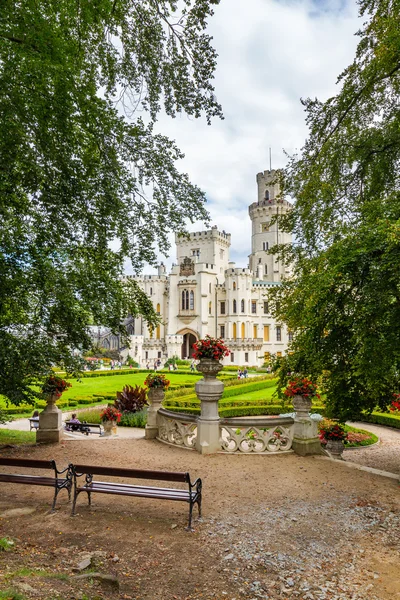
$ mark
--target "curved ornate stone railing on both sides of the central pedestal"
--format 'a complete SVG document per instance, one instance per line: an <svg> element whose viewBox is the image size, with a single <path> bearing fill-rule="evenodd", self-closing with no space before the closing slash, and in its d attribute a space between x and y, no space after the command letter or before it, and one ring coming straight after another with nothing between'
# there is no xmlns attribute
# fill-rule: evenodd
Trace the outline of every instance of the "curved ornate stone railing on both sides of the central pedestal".
<svg viewBox="0 0 400 600"><path fill-rule="evenodd" d="M196 448L198 417L161 408L158 439L183 448ZM290 417L220 419L218 452L282 453L291 449L294 420Z"/></svg>

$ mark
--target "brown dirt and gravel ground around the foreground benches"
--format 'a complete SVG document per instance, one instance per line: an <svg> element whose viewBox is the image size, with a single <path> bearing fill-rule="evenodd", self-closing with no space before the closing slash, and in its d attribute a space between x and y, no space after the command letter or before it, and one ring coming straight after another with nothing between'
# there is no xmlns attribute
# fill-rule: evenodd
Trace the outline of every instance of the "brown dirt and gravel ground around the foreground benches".
<svg viewBox="0 0 400 600"><path fill-rule="evenodd" d="M400 598L394 480L294 454L202 457L144 439L3 453L188 470L203 478L204 521L187 533L183 503L100 494L91 510L81 497L76 518L61 497L52 515L50 490L2 485L0 538L15 539L0 553L2 590L40 600Z"/></svg>

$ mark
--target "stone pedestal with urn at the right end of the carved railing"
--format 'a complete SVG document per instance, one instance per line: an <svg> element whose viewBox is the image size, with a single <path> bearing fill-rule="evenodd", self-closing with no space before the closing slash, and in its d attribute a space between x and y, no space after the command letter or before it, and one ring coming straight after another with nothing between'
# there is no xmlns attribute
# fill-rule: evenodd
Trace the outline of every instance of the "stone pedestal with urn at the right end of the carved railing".
<svg viewBox="0 0 400 600"><path fill-rule="evenodd" d="M301 456L324 454L318 437L318 425L310 417L311 400L305 396L294 396L293 408L296 412L293 450Z"/></svg>

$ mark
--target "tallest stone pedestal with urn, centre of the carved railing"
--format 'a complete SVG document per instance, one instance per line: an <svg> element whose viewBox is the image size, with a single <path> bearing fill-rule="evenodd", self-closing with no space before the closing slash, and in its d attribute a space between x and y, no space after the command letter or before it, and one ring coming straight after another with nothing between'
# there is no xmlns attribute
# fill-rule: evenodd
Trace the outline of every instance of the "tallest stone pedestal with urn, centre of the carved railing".
<svg viewBox="0 0 400 600"><path fill-rule="evenodd" d="M201 454L214 454L221 448L218 400L224 391L224 384L217 379L221 369L221 363L212 358L203 358L197 365L197 370L204 376L195 386L201 402L201 415L197 419L196 450Z"/></svg>

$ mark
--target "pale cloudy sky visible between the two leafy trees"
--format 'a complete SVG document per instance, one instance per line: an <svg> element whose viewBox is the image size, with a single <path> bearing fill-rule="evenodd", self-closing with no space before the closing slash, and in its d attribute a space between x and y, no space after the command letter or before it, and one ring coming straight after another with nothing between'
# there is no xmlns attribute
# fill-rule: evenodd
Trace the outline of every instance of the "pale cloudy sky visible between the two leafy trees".
<svg viewBox="0 0 400 600"><path fill-rule="evenodd" d="M338 92L361 25L354 0L221 0L215 7L208 32L219 55L214 85L225 119L208 126L205 118L161 116L157 129L185 153L178 167L206 193L211 225L231 233L238 267L251 252L248 206L257 200L256 174L269 169L269 148L273 169L285 166L285 152L301 149L307 126L300 98ZM174 243L160 260L169 271Z"/></svg>

